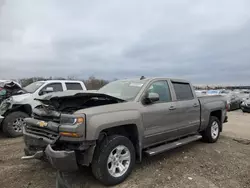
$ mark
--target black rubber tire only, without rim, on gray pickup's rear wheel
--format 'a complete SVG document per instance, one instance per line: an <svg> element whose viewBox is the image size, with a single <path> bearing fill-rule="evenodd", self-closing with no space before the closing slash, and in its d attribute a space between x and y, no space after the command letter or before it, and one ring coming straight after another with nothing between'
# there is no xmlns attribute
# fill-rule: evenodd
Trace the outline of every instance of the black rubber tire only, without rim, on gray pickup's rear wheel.
<svg viewBox="0 0 250 188"><path fill-rule="evenodd" d="M212 127L213 127L214 123L217 123L217 125L218 125L218 134L216 137L214 135L212 135ZM220 127L221 127L220 120L215 116L210 116L208 126L207 126L206 130L202 133L202 140L204 142L207 142L207 143L216 142L220 136Z"/></svg>

